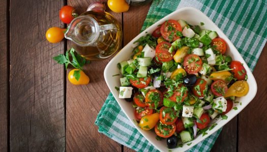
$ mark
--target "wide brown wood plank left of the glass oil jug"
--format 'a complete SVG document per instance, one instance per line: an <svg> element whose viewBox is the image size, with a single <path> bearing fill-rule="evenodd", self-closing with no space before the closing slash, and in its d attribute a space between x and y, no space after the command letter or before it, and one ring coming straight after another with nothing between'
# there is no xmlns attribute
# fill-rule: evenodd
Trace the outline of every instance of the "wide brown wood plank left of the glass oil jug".
<svg viewBox="0 0 267 152"><path fill-rule="evenodd" d="M63 1L10 2L10 150L65 151L64 67L52 60L64 42L46 30L63 27Z"/></svg>

